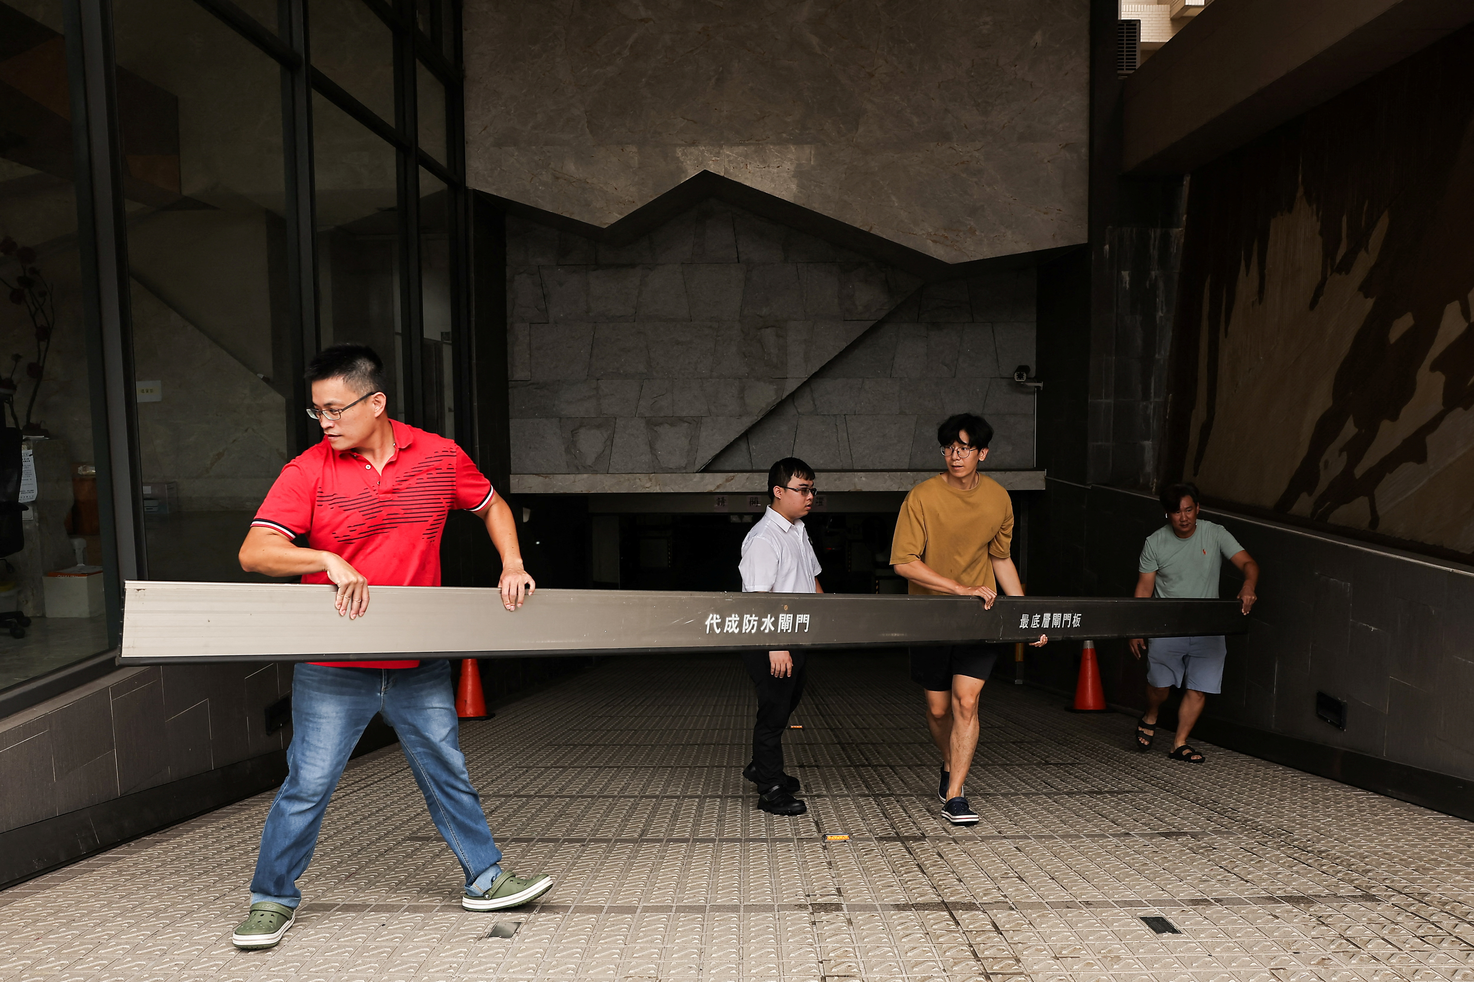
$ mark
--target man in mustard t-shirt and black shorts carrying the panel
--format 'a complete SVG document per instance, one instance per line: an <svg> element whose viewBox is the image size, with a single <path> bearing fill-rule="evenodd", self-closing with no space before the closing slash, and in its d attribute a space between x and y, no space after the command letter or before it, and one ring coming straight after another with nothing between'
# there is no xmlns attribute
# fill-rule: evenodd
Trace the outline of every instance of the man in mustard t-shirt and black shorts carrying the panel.
<svg viewBox="0 0 1474 982"><path fill-rule="evenodd" d="M992 607L1002 589L1023 596L1008 554L1013 502L998 481L977 473L988 458L993 428L961 412L936 428L946 470L907 495L896 517L890 564L911 582L909 593L982 598ZM1048 640L1044 635L1035 646ZM977 698L1005 645L933 645L911 648L911 679L926 689L927 724L942 751L937 796L952 824L977 824L963 782L977 749Z"/></svg>

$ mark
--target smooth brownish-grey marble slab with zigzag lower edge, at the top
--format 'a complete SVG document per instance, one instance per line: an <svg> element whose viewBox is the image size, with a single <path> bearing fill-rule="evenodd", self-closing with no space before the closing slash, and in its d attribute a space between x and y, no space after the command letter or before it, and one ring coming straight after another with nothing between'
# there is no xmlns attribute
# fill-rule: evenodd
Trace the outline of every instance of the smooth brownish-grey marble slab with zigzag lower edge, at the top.
<svg viewBox="0 0 1474 982"><path fill-rule="evenodd" d="M472 187L604 227L712 171L946 262L1083 241L1088 0L467 0Z"/></svg>

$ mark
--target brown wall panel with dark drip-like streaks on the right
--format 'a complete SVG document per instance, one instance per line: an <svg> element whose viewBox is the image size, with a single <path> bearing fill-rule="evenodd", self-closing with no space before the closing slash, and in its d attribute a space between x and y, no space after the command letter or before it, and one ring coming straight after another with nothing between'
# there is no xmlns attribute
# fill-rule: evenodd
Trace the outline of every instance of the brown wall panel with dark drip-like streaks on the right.
<svg viewBox="0 0 1474 982"><path fill-rule="evenodd" d="M1474 554L1474 28L1192 174L1163 477Z"/></svg>

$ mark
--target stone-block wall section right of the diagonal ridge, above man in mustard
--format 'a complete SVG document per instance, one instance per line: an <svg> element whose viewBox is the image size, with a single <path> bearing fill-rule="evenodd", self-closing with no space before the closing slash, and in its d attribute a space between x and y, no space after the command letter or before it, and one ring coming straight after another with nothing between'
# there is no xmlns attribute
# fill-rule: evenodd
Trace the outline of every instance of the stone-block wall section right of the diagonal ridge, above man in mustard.
<svg viewBox="0 0 1474 982"><path fill-rule="evenodd" d="M821 470L940 468L936 425L979 412L988 470L1033 467L1035 274L932 284L846 347L734 440L712 470L766 470L799 456Z"/></svg>

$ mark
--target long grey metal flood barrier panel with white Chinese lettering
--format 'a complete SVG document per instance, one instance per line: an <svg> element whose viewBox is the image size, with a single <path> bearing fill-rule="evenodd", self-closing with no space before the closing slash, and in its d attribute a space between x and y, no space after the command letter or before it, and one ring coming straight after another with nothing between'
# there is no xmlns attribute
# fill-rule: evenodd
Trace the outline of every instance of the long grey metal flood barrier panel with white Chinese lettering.
<svg viewBox="0 0 1474 982"><path fill-rule="evenodd" d="M333 608L332 586L127 584L124 664L374 661L621 655L750 648L880 648L1241 635L1238 601L855 593L538 590L522 610L494 589L374 586L367 615Z"/></svg>

